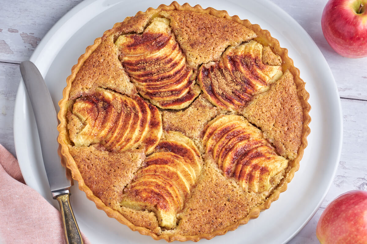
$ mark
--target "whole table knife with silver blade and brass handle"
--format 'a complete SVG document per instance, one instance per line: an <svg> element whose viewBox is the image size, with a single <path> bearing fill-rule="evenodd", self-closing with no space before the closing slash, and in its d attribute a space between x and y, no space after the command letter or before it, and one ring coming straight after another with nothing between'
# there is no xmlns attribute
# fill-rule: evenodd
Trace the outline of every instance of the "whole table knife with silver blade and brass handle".
<svg viewBox="0 0 367 244"><path fill-rule="evenodd" d="M83 244L80 230L70 205L70 181L66 178L65 168L60 163L57 153L57 116L50 92L44 79L31 61L20 64L23 81L32 104L34 117L40 137L43 163L46 169L52 197L60 205L66 244Z"/></svg>

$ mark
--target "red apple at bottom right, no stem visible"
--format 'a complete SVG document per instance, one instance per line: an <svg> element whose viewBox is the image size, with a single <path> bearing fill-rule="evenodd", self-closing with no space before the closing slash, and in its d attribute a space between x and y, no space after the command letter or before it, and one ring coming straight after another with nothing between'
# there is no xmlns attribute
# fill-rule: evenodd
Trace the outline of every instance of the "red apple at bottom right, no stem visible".
<svg viewBox="0 0 367 244"><path fill-rule="evenodd" d="M321 244L367 243L367 192L348 191L321 214L316 227Z"/></svg>

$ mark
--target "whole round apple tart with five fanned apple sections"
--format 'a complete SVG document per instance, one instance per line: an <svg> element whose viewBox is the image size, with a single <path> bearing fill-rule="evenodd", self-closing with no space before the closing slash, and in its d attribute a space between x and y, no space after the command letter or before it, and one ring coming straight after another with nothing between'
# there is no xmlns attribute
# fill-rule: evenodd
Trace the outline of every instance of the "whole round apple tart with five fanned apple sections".
<svg viewBox="0 0 367 244"><path fill-rule="evenodd" d="M59 102L62 163L130 229L210 239L287 189L307 146L308 97L268 31L160 5L116 23L73 66Z"/></svg>

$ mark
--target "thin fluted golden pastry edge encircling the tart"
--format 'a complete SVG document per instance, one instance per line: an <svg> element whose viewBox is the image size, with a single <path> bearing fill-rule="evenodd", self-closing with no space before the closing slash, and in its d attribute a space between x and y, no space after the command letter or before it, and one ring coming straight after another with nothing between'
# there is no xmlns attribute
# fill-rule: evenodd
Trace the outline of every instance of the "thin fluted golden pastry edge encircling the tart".
<svg viewBox="0 0 367 244"><path fill-rule="evenodd" d="M265 46L269 46L272 52L276 53L281 57L281 60L283 60L282 68L283 70L289 69L291 74L294 76L295 85L297 87L297 94L298 98L301 101L302 109L303 109L303 115L304 115L304 123L302 125L302 136L301 136L301 145L298 148L297 151L297 157L289 162L288 168L286 169L286 172L282 174L282 177L284 175L284 178L281 179L280 184L277 185L277 187L272 191L272 193L264 198L264 201L261 202L260 205L253 207L248 214L241 218L236 220L236 222L231 223L231 220L227 221L229 226L217 226L213 229L213 232L211 233L204 233L202 232L191 232L191 235L188 235L185 232L180 233L172 233L172 232L164 232L159 233L156 220L154 219L154 216L152 213L133 213L134 211L126 210L126 209L118 209L117 205L115 205L115 209L106 206L101 199L97 198L91 191L91 189L84 183L83 177L81 176L79 169L70 154L69 151L69 139L68 139L68 121L66 120L66 113L68 111L68 98L70 93L70 88L72 85L73 80L75 79L76 74L80 70L81 66L84 64L86 59L93 53L93 51L99 46L101 43L101 40L107 39L111 34L115 33L115 31L120 28L120 34L128 34L128 32L135 32L140 33L145 28L145 26L149 23L149 20L153 14L159 13L159 11L169 11L169 10L184 10L184 11L194 11L198 12L200 14L211 14L219 18L224 19L230 19L234 22L239 23L240 25L243 25L247 27L248 29L251 29L258 35L257 38L255 38L256 41L260 42L261 44ZM125 26L125 27L124 27ZM138 29L137 26L144 26L141 29ZM301 78L299 78L299 70L294 67L293 61L288 57L287 55L287 49L281 48L279 45L279 42L272 38L269 31L262 30L258 25L252 25L248 20L240 20L238 16L229 16L226 11L217 11L213 8L207 8L203 9L199 5L196 5L194 7L191 7L189 4L183 4L179 5L177 2L173 2L170 5L160 5L157 9L149 8L146 12L138 12L135 17L132 18L126 18L126 21L123 23L117 23L115 26L115 29L111 29L105 32L102 38L97 38L95 40L94 45L89 46L86 50L86 53L82 55L79 60L78 64L76 64L72 68L72 74L68 77L67 83L68 86L63 90L63 99L59 102L59 105L61 107L60 112L58 114L58 118L60 120L60 124L58 126L58 130L60 132L58 141L61 144L61 154L64 157L63 162L66 162L66 166L72 171L72 177L73 179L79 181L79 188L86 192L87 198L94 201L96 206L99 209L103 209L109 217L116 218L119 222L122 224L127 225L130 229L134 231L138 231L141 234L152 236L153 239L159 240L164 239L166 241L186 241L186 240L193 240L198 241L200 239L211 239L212 237L216 235L225 234L229 230L236 229L240 224L245 224L247 221L251 218L257 218L259 215L259 212L265 209L268 209L270 207L270 204L279 198L280 192L283 192L287 189L287 183L291 181L292 177L294 176L295 171L299 168L299 161L302 158L304 148L307 146L307 140L306 137L309 134L309 127L308 124L310 122L310 117L308 115L308 112L310 110L310 106L307 102L309 94L304 89L304 82ZM129 31L130 30L130 31ZM117 35L114 35L114 38ZM115 40L114 40L115 41ZM272 62L276 63L276 59L274 57L269 57L269 64L272 64ZM274 63L274 64L275 64ZM199 64L199 63L198 63ZM215 165L214 165L215 166ZM219 174L220 175L220 174ZM203 174L204 176L204 174ZM195 190L195 189L194 189ZM198 194L200 195L200 194ZM191 199L190 199L191 200ZM115 203L116 204L116 203ZM184 210L185 211L185 210ZM214 211L214 210L213 210ZM139 223L139 218L143 218L142 216L148 217L148 221ZM182 221L182 220L181 220ZM185 222L182 222L182 226ZM140 225L140 226L139 226ZM143 227L142 227L143 226ZM181 228L181 227L180 227ZM183 229L183 228L182 228Z"/></svg>

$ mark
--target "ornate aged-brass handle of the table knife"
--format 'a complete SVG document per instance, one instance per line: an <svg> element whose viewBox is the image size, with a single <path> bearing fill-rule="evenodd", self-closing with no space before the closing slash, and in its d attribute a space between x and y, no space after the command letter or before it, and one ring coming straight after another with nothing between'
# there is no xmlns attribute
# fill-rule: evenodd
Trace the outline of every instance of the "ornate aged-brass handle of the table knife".
<svg viewBox="0 0 367 244"><path fill-rule="evenodd" d="M60 205L60 211L62 216L62 222L64 225L65 241L66 244L83 244L81 239L80 230L78 224L76 223L73 210L70 205L69 191L63 191L60 195L54 195L54 199L57 199ZM58 192L61 193L61 192Z"/></svg>

